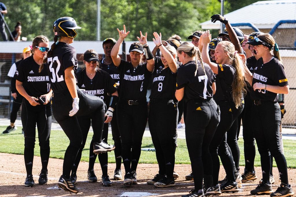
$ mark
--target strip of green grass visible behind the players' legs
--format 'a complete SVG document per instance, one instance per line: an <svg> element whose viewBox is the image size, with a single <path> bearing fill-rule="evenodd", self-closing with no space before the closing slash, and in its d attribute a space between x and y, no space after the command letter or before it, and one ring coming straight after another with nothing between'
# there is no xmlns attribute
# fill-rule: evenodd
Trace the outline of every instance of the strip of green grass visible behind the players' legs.
<svg viewBox="0 0 296 197"><path fill-rule="evenodd" d="M0 127L0 131L4 131L6 127ZM86 146L82 152L82 161L88 161L89 158L89 144L91 141L92 133L89 133ZM112 143L112 136L109 134L108 141ZM240 165L244 165L244 143L243 139L239 139L239 149L241 151ZM50 135L50 157L63 159L65 150L69 144L69 140L63 131L51 131ZM142 148L153 147L150 137L143 137ZM257 146L256 146L257 147ZM295 153L296 141L284 140L284 155L287 160L287 166L290 168L296 168L296 153ZM9 134L0 135L0 152L23 154L24 153L24 137L21 135L21 128L17 131L13 131ZM35 155L40 156L40 149L38 146L38 138L36 138ZM114 152L108 153L108 161L115 163ZM141 152L140 163L157 163L155 152ZM176 163L177 164L190 164L189 155L187 151L185 139L178 139L178 147L176 149ZM274 167L275 167L274 162ZM260 157L258 151L255 157L255 166L260 166Z"/></svg>

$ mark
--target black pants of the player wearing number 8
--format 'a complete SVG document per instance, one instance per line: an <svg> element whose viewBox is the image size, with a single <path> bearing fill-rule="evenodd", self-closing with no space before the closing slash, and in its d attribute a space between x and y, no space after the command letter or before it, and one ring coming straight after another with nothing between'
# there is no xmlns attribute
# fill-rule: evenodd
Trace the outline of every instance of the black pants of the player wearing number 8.
<svg viewBox="0 0 296 197"><path fill-rule="evenodd" d="M155 147L159 174L173 180L178 108L173 100L150 99L149 130Z"/></svg>

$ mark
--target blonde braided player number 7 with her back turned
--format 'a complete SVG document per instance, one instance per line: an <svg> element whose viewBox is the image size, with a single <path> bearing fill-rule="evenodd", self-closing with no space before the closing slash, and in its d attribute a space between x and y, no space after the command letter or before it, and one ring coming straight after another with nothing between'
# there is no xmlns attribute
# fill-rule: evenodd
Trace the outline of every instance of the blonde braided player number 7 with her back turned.
<svg viewBox="0 0 296 197"><path fill-rule="evenodd" d="M187 103L185 134L194 177L194 190L182 197L215 194L209 145L219 123L220 112L212 99L214 74L210 66L202 62L199 49L192 43L182 43L177 53L183 66L178 69L175 96L177 100L184 97Z"/></svg>

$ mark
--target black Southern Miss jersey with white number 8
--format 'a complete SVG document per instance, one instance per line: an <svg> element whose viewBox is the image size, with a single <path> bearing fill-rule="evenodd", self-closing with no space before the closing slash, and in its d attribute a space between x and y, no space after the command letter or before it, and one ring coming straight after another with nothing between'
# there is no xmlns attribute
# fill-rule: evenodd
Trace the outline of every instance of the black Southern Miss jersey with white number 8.
<svg viewBox="0 0 296 197"><path fill-rule="evenodd" d="M176 92L176 76L169 67L159 69L156 76L152 79L151 95L149 98L168 98L174 99Z"/></svg>

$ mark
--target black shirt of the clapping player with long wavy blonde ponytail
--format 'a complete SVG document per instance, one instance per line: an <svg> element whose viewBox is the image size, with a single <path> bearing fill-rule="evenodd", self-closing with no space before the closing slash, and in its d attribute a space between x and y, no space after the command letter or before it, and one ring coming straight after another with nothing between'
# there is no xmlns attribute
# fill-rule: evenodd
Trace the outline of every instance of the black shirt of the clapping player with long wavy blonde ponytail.
<svg viewBox="0 0 296 197"><path fill-rule="evenodd" d="M228 64L218 64L218 74L216 74L216 93L214 100L233 102L231 84L234 80L235 68Z"/></svg>

